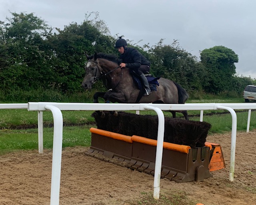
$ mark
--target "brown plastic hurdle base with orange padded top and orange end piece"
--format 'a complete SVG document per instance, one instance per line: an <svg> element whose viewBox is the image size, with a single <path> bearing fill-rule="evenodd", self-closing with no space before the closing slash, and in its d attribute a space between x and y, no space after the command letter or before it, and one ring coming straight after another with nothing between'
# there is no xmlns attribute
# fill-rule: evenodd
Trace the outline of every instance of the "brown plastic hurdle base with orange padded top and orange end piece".
<svg viewBox="0 0 256 205"><path fill-rule="evenodd" d="M156 140L136 135L131 137L96 128L91 128L90 131L92 142L86 154L154 175ZM218 147L216 153L214 153L215 147ZM215 163L214 170L224 168L219 144L206 143L204 147L190 148L186 145L164 142L161 177L178 183L203 181L212 177L209 169L211 159Z"/></svg>

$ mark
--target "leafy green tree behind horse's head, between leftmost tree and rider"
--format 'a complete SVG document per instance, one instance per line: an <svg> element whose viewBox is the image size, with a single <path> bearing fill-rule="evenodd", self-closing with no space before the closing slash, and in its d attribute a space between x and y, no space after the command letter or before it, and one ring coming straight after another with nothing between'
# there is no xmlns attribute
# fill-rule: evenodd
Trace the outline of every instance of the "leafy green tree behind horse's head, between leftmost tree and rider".
<svg viewBox="0 0 256 205"><path fill-rule="evenodd" d="M84 53L109 52L112 40L90 22L81 25L73 23L58 32L49 38L55 52L53 67L58 76L56 84L63 92L81 91L86 62Z"/></svg>

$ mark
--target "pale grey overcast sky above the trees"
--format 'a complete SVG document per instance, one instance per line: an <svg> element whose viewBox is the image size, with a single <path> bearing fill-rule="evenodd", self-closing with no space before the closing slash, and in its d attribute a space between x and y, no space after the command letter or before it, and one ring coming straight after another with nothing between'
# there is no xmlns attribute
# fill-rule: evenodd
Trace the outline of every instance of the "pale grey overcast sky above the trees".
<svg viewBox="0 0 256 205"><path fill-rule="evenodd" d="M164 39L197 57L214 46L232 49L238 76L256 78L255 0L0 0L0 20L10 12L34 13L63 30L99 12L111 35L153 46ZM199 58L198 58L199 59Z"/></svg>

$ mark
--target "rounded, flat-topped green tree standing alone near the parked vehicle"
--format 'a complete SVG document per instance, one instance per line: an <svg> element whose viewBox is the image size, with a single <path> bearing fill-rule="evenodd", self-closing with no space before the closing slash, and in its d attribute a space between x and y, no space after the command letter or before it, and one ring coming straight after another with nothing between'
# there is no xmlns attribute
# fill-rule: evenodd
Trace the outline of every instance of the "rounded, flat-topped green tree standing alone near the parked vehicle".
<svg viewBox="0 0 256 205"><path fill-rule="evenodd" d="M208 73L204 90L208 93L219 94L232 89L238 55L224 46L214 46L205 49L200 54L202 64Z"/></svg>

